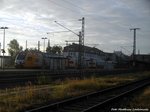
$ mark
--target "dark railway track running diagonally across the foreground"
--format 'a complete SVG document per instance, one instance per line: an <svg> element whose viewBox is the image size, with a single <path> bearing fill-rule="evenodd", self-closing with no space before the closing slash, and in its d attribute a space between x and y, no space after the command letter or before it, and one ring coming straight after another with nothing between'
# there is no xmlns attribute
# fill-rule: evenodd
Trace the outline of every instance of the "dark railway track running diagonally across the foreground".
<svg viewBox="0 0 150 112"><path fill-rule="evenodd" d="M150 78L134 81L118 87L105 89L58 103L31 109L26 112L103 112L108 104L120 100L150 84ZM110 111L110 107L107 107ZM104 111L105 112L105 111Z"/></svg>

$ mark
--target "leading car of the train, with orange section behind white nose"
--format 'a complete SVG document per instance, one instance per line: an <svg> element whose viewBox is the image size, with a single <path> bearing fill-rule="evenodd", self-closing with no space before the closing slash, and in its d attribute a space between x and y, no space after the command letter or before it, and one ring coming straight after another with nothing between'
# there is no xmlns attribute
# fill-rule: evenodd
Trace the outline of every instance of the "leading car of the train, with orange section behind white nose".
<svg viewBox="0 0 150 112"><path fill-rule="evenodd" d="M66 58L39 51L20 52L15 59L16 68L45 68L49 70L67 68Z"/></svg>

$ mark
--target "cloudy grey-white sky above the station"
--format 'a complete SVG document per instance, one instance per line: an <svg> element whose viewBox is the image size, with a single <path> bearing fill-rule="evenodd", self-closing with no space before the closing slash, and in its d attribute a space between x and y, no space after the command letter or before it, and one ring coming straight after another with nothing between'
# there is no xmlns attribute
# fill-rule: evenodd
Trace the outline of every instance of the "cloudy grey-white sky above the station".
<svg viewBox="0 0 150 112"><path fill-rule="evenodd" d="M122 50L132 52L133 31L137 31L137 52L150 53L150 0L0 0L0 27L6 26L6 43L17 39L25 49L37 47L42 37L53 45L65 45L65 40L78 37L63 27L78 33L81 19L85 17L85 45L94 46L106 52ZM52 32L47 34L47 32ZM0 29L0 43L3 45L3 30ZM46 40L47 44L47 40Z"/></svg>

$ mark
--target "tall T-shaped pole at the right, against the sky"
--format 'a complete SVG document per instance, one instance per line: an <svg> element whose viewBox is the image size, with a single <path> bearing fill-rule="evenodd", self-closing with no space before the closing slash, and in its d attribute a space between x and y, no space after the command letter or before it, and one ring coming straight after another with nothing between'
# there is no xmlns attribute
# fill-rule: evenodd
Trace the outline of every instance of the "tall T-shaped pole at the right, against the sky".
<svg viewBox="0 0 150 112"><path fill-rule="evenodd" d="M136 30L140 30L140 28L131 28L133 30L133 61L136 60Z"/></svg>

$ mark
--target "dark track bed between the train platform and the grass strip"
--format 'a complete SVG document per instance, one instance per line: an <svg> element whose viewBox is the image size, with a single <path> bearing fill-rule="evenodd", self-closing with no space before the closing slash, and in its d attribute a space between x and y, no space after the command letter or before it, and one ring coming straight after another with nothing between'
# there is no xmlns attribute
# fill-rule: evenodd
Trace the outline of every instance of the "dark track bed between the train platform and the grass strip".
<svg viewBox="0 0 150 112"><path fill-rule="evenodd" d="M91 75L111 75L135 72L134 70L33 70L33 69L5 69L0 71L0 89L25 85L28 82L37 83L41 76L56 80L67 77L88 77Z"/></svg>

